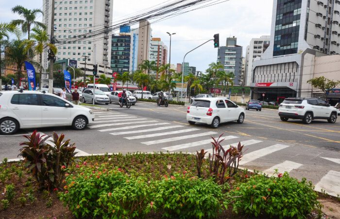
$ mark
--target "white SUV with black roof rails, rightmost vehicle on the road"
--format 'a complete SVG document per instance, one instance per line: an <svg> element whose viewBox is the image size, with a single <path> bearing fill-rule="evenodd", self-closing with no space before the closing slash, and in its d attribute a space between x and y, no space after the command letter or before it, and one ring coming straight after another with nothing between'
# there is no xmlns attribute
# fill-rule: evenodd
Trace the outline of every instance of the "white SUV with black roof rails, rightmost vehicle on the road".
<svg viewBox="0 0 340 219"><path fill-rule="evenodd" d="M310 124L314 119L326 119L329 123L335 123L338 112L318 98L287 98L280 104L279 116L282 121L302 119Z"/></svg>

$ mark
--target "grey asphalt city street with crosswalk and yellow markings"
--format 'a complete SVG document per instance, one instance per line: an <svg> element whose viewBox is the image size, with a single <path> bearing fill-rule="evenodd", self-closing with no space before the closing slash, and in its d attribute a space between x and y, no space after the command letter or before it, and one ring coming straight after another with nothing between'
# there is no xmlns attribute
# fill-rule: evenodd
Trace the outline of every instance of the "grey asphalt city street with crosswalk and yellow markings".
<svg viewBox="0 0 340 219"><path fill-rule="evenodd" d="M95 110L95 123L82 131L69 127L39 128L51 135L64 133L76 143L80 155L127 152L187 152L211 149L210 136L223 134L223 146L244 145L241 166L272 174L288 171L291 176L312 181L317 190L340 194L340 122L325 120L305 125L300 120L282 122L277 110L246 110L243 124L230 122L217 129L206 125L188 125L187 107L157 107L155 103L137 102L130 109L118 104L100 105L109 111ZM23 134L0 136L0 160L17 158ZM210 150L211 151L211 150Z"/></svg>

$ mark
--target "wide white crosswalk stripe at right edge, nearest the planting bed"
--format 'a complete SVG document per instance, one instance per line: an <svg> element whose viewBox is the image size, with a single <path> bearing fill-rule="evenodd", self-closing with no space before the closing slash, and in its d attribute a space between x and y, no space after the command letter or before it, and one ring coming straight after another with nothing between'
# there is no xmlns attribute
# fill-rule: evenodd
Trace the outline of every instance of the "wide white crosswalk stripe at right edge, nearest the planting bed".
<svg viewBox="0 0 340 219"><path fill-rule="evenodd" d="M330 170L323 178L315 185L315 190L321 192L325 190L331 196L340 195L340 172Z"/></svg>

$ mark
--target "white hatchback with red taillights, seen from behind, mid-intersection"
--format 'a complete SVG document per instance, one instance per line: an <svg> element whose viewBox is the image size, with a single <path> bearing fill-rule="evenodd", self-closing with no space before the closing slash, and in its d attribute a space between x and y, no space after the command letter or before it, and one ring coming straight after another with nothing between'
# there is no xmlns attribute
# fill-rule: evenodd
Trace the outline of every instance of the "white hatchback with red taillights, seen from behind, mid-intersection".
<svg viewBox="0 0 340 219"><path fill-rule="evenodd" d="M226 98L197 98L187 108L187 121L190 125L204 123L218 128L220 123L237 121L243 123L245 110Z"/></svg>

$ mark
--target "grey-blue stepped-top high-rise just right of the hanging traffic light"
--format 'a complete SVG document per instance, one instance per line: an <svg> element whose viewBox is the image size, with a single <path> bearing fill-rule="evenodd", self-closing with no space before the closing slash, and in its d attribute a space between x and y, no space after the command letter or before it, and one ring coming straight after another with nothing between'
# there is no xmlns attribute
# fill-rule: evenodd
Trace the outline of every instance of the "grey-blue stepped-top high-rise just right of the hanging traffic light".
<svg viewBox="0 0 340 219"><path fill-rule="evenodd" d="M242 47L237 45L236 37L228 37L226 46L221 46L217 52L217 62L221 62L226 73L234 73L234 85L239 85L242 69Z"/></svg>

